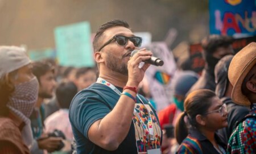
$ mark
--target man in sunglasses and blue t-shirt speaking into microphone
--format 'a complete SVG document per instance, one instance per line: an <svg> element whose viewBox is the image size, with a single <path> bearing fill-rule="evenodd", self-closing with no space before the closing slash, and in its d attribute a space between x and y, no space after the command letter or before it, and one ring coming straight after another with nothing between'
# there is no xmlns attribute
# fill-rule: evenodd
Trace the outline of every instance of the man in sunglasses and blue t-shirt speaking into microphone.
<svg viewBox="0 0 256 154"><path fill-rule="evenodd" d="M160 153L162 131L154 108L137 87L150 64L152 52L138 49L142 38L129 24L102 24L93 40L99 69L96 83L81 90L69 108L77 153Z"/></svg>

